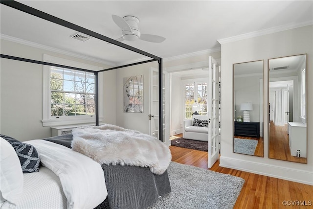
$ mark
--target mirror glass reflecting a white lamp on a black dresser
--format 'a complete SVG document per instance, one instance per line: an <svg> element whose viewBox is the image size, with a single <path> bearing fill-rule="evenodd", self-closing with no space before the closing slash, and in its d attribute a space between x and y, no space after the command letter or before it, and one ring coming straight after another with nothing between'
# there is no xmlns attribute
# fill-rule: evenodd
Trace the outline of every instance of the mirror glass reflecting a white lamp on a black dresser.
<svg viewBox="0 0 313 209"><path fill-rule="evenodd" d="M233 65L235 153L264 157L264 60Z"/></svg>

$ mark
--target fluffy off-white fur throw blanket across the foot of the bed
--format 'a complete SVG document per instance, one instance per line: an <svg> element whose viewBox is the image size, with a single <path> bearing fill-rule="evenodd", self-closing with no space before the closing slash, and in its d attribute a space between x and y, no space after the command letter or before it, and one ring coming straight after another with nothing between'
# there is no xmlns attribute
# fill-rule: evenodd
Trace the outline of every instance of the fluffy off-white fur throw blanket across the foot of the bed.
<svg viewBox="0 0 313 209"><path fill-rule="evenodd" d="M72 149L100 164L150 167L162 174L172 160L167 145L139 131L105 124L76 128L72 134Z"/></svg>

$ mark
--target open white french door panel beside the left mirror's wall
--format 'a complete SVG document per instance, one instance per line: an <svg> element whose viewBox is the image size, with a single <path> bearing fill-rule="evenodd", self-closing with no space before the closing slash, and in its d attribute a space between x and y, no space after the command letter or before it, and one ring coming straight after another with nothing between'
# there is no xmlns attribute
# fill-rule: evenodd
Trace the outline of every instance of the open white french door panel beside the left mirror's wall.
<svg viewBox="0 0 313 209"><path fill-rule="evenodd" d="M208 82L208 116L209 116L209 136L208 136L208 168L219 158L219 121L220 121L220 86L219 69L217 62L209 56L209 82Z"/></svg>

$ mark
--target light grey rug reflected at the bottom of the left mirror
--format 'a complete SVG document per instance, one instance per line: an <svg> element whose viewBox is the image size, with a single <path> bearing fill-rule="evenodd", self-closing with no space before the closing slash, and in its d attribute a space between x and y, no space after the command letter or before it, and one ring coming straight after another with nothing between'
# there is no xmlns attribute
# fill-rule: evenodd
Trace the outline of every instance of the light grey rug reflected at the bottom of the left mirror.
<svg viewBox="0 0 313 209"><path fill-rule="evenodd" d="M234 152L246 155L254 155L258 140L234 138Z"/></svg>

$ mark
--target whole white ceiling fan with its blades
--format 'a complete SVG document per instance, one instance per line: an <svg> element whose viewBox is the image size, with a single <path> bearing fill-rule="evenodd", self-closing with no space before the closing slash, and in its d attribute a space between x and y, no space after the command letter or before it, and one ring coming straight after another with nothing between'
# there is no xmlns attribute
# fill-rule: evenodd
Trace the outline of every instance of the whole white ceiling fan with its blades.
<svg viewBox="0 0 313 209"><path fill-rule="evenodd" d="M139 19L134 16L121 18L117 15L112 15L112 19L122 29L122 37L115 39L116 41L136 41L140 39L147 42L161 43L165 40L162 36L141 34L138 28Z"/></svg>

